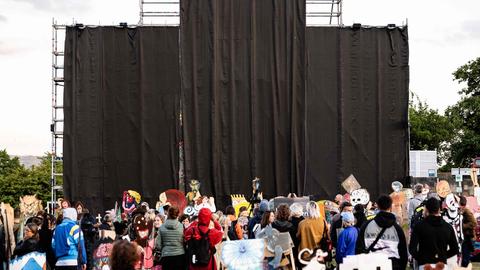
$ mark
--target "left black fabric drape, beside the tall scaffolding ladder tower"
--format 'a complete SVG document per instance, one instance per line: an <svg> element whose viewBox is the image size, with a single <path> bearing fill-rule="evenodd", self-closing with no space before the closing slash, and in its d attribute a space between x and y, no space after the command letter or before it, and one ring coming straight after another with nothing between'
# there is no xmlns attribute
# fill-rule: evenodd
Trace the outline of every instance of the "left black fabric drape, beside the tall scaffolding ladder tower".
<svg viewBox="0 0 480 270"><path fill-rule="evenodd" d="M178 28L67 28L66 198L96 212L178 187L178 59Z"/></svg>

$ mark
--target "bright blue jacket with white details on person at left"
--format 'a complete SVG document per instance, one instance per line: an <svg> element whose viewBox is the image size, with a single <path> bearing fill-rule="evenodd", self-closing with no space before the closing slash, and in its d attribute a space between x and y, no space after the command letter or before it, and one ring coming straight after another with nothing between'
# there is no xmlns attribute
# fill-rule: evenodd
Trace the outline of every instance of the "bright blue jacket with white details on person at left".
<svg viewBox="0 0 480 270"><path fill-rule="evenodd" d="M78 249L82 251L82 264L87 264L85 242L80 226L75 221L64 219L53 232L52 249L55 251L57 266L77 266Z"/></svg>

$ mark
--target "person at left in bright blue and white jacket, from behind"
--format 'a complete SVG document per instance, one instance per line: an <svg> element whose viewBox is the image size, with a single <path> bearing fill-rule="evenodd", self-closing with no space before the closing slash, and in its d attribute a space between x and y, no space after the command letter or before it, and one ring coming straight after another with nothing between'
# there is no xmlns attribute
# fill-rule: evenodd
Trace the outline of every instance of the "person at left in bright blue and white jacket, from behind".
<svg viewBox="0 0 480 270"><path fill-rule="evenodd" d="M75 208L63 209L62 223L55 228L52 238L52 248L57 259L55 269L78 270L78 266L86 269L85 242L76 220Z"/></svg>

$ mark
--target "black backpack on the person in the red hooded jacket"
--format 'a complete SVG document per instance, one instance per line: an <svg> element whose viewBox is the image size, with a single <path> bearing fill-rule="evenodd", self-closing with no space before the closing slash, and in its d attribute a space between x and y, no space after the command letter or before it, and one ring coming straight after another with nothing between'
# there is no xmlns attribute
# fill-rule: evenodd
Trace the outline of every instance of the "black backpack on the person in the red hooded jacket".
<svg viewBox="0 0 480 270"><path fill-rule="evenodd" d="M206 266L210 262L214 251L210 249L210 239L208 237L208 230L205 234L202 233L198 227L196 228L200 234L200 239L190 238L187 241L187 254L189 264L196 266ZM195 231L195 229L194 229Z"/></svg>

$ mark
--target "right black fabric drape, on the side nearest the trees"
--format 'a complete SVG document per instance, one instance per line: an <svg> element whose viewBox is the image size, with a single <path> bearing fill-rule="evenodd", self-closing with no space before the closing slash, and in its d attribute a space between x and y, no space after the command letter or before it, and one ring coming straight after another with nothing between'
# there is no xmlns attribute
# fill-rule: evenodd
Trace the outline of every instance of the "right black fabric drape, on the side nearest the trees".
<svg viewBox="0 0 480 270"><path fill-rule="evenodd" d="M408 175L406 28L307 29L305 190L344 192L354 174L372 199Z"/></svg>

